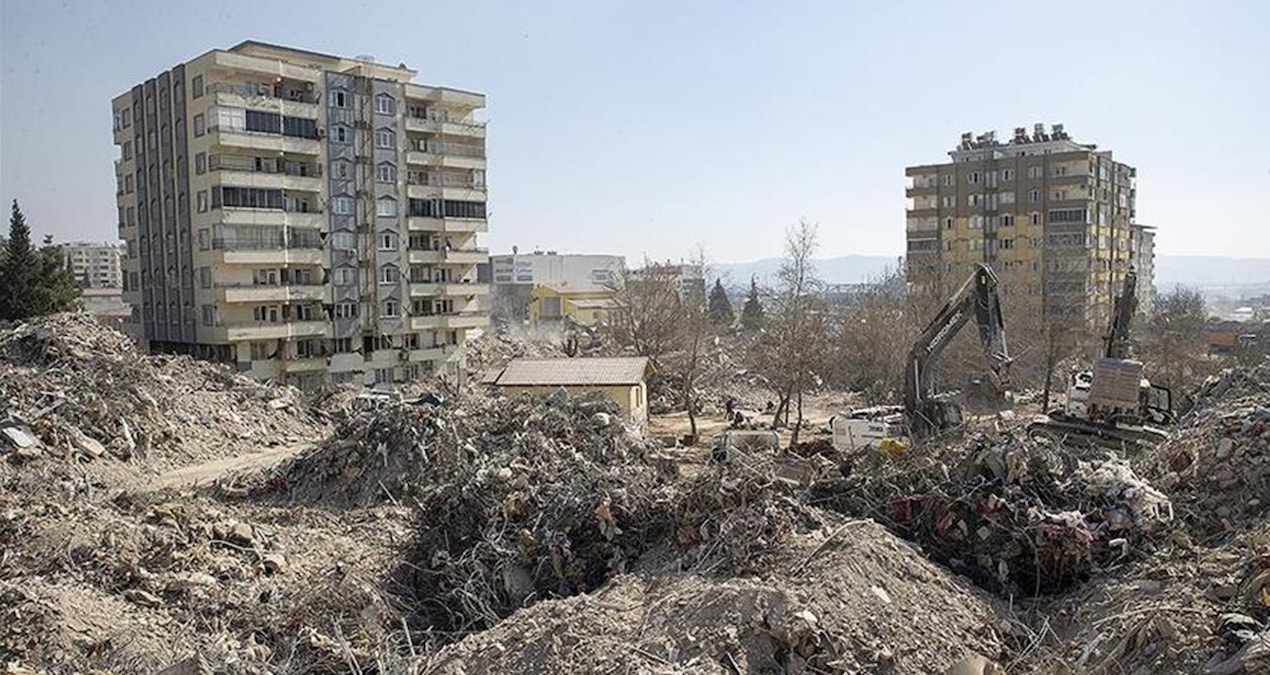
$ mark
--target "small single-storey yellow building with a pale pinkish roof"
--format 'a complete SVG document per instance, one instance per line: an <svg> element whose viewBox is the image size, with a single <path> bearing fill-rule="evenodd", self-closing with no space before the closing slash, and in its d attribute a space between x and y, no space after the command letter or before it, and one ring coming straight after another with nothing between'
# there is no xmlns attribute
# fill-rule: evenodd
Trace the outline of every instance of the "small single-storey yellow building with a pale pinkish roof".
<svg viewBox="0 0 1270 675"><path fill-rule="evenodd" d="M599 392L621 407L627 421L643 423L648 421L648 375L644 356L513 358L503 370L488 374L485 383L507 395Z"/></svg>

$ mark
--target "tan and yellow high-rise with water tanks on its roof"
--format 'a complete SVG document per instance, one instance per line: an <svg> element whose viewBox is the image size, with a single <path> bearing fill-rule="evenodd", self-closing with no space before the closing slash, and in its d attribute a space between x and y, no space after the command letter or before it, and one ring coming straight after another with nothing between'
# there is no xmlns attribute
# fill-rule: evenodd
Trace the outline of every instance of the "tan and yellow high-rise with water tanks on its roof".
<svg viewBox="0 0 1270 675"><path fill-rule="evenodd" d="M946 295L974 263L1005 292L1035 296L1050 319L1082 320L1096 337L1124 272L1152 285L1151 231L1134 225L1135 174L1110 150L1073 141L1062 125L963 133L950 161L908 167L907 275Z"/></svg>

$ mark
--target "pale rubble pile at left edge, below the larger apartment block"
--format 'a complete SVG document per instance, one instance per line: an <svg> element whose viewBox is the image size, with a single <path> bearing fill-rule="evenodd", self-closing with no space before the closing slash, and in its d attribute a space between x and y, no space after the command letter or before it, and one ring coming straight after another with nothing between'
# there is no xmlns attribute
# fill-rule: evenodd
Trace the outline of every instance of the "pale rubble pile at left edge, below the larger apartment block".
<svg viewBox="0 0 1270 675"><path fill-rule="evenodd" d="M86 313L0 332L0 451L17 459L137 456L163 469L321 431L296 390L185 356L145 356Z"/></svg>

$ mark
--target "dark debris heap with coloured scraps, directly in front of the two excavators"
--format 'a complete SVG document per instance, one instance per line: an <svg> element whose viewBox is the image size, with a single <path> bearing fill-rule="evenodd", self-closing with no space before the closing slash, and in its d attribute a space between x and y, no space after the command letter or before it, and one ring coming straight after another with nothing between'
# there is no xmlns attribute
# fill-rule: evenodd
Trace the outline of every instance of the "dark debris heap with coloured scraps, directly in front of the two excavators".
<svg viewBox="0 0 1270 675"><path fill-rule="evenodd" d="M1008 433L870 453L843 472L813 486L813 503L871 517L1005 595L1062 591L1172 520L1126 461Z"/></svg>

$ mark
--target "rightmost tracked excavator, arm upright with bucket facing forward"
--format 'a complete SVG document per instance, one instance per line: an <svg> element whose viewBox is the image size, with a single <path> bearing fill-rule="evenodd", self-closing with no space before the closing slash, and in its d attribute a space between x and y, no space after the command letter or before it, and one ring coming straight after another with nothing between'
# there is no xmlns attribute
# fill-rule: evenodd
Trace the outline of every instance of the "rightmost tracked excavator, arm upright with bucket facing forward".
<svg viewBox="0 0 1270 675"><path fill-rule="evenodd" d="M1176 421L1172 393L1143 378L1142 361L1129 358L1129 331L1138 310L1138 273L1125 273L1104 336L1102 356L1092 370L1076 372L1063 408L1038 416L1027 426L1033 437L1069 445L1154 445L1168 439L1165 426Z"/></svg>

